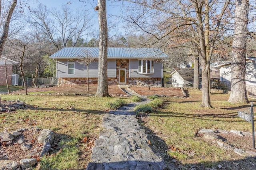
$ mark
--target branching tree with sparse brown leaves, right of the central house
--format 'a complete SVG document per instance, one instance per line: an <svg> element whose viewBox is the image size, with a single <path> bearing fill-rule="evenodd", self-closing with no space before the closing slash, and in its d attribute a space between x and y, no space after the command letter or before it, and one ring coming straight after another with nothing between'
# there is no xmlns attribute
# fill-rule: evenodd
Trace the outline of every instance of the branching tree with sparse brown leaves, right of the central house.
<svg viewBox="0 0 256 170"><path fill-rule="evenodd" d="M126 0L129 5L126 16L132 31L138 30L151 36L151 46L162 51L173 48L189 48L193 41L200 52L202 67L202 107L212 107L210 102L209 70L210 59L216 40L229 29L229 17L232 6L230 0ZM226 10L228 8L228 10ZM130 11L130 12L129 12ZM177 40L177 41L176 41ZM176 43L178 42L179 43ZM174 43L173 43L174 42ZM171 45L171 48L170 48Z"/></svg>

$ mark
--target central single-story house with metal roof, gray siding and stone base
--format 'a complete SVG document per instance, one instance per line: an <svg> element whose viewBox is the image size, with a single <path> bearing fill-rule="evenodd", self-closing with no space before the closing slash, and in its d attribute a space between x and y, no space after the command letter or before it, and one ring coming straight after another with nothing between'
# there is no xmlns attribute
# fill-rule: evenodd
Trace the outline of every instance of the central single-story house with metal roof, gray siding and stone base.
<svg viewBox="0 0 256 170"><path fill-rule="evenodd" d="M79 62L86 54L95 58L89 64L89 83L97 84L98 53L97 47L69 47L51 55L56 59L58 85L87 84L87 66ZM108 84L160 85L165 58L155 48L108 48Z"/></svg>

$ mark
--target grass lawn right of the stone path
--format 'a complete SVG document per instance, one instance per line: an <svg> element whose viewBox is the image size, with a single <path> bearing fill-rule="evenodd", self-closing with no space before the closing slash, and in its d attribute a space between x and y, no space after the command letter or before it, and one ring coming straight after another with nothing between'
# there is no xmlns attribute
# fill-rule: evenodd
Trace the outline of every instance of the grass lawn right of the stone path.
<svg viewBox="0 0 256 170"><path fill-rule="evenodd" d="M249 105L227 102L229 94L214 94L210 96L213 108L202 108L202 92L192 90L189 95L188 98L164 98L165 107L149 115L146 127L154 127L152 131L160 131L160 136L164 137L169 148L178 148L168 150L168 154L182 164L197 162L204 167L211 167L216 163L209 162L239 160L240 157L232 150L223 150L216 143L210 143L195 134L203 128L251 132L250 123L237 117L237 109L244 109ZM156 104L161 106L160 101ZM194 156L190 156L192 151Z"/></svg>

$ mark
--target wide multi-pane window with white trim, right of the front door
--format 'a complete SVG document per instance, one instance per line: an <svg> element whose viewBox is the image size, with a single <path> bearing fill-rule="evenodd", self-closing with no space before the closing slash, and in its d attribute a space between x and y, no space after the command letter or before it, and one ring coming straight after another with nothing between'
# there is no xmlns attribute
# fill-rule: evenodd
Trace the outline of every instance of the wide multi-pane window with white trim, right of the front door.
<svg viewBox="0 0 256 170"><path fill-rule="evenodd" d="M154 60L138 60L138 73L154 73Z"/></svg>

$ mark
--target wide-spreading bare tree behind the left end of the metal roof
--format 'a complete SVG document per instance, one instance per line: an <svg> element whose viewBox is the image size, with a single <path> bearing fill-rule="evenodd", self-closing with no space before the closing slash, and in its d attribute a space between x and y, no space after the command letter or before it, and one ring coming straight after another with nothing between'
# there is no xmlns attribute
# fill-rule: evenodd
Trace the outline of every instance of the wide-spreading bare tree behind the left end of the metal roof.
<svg viewBox="0 0 256 170"><path fill-rule="evenodd" d="M72 12L67 5L48 10L46 6L38 6L28 18L28 22L42 31L52 41L56 49L76 47L84 35L90 34L92 17L86 11Z"/></svg>

